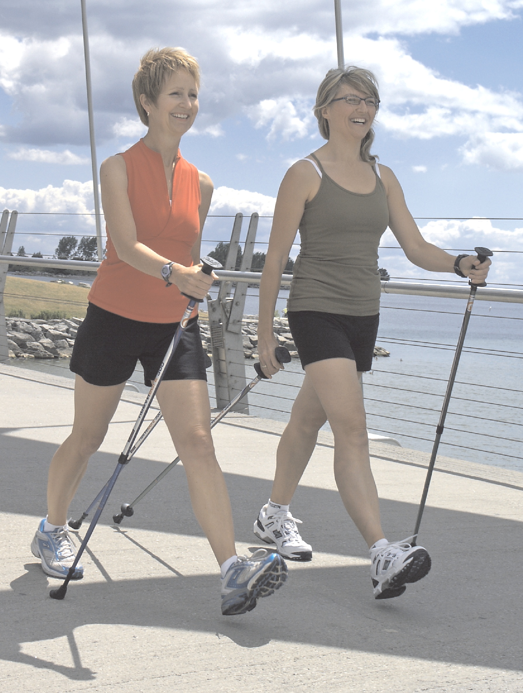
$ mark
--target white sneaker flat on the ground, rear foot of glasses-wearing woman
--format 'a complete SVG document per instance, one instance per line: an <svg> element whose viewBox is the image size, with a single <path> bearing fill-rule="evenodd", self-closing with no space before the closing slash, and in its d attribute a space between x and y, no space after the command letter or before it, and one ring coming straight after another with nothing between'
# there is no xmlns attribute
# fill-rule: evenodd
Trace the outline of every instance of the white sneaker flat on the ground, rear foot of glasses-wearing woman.
<svg viewBox="0 0 523 693"><path fill-rule="evenodd" d="M253 529L258 539L276 544L278 554L287 561L311 561L312 546L303 541L296 523L301 525L301 520L293 518L289 511L273 512L264 505Z"/></svg>

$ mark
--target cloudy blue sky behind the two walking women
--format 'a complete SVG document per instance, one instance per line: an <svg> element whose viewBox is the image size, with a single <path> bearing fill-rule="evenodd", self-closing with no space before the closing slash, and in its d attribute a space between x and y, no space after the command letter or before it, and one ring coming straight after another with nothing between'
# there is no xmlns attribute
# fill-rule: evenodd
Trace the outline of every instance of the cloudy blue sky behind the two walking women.
<svg viewBox="0 0 523 693"><path fill-rule="evenodd" d="M336 65L332 0L87 0L98 163L143 134L130 91L140 55L181 45L202 65L200 115L181 150L215 183L211 211L269 215L286 168L321 146L311 107ZM375 71L374 152L391 166L436 245L522 250L523 0L342 0L345 58ZM0 204L92 211L80 3L5 1L0 10ZM463 220L457 220L463 218ZM247 226L247 225L245 225ZM210 248L231 220L212 219ZM91 217L20 217L15 250L53 253ZM258 239L267 240L269 222ZM396 245L390 232L383 245ZM260 247L262 249L262 247ZM499 254L498 282L517 256ZM393 276L427 277L383 249ZM443 279L443 277L441 277Z"/></svg>

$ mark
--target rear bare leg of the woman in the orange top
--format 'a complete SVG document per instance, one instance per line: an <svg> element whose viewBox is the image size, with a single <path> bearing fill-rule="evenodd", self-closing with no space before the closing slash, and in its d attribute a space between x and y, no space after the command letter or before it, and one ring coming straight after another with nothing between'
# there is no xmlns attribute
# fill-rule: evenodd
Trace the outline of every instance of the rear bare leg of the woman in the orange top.
<svg viewBox="0 0 523 693"><path fill-rule="evenodd" d="M85 474L89 457L105 438L124 387L125 383L109 387L90 385L76 376L73 430L57 449L49 468L47 508L51 525L67 522L69 504Z"/></svg>

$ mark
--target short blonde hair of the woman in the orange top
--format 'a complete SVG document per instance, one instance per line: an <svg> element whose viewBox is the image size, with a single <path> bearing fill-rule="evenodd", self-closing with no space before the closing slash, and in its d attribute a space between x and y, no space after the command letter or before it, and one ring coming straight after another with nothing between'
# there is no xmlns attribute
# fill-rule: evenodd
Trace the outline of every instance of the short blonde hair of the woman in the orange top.
<svg viewBox="0 0 523 693"><path fill-rule="evenodd" d="M151 103L156 104L166 79L179 70L186 70L192 75L196 88L200 89L200 65L185 49L152 48L142 56L138 72L132 80L132 96L143 125L149 125L149 118L140 103L140 94L145 94Z"/></svg>

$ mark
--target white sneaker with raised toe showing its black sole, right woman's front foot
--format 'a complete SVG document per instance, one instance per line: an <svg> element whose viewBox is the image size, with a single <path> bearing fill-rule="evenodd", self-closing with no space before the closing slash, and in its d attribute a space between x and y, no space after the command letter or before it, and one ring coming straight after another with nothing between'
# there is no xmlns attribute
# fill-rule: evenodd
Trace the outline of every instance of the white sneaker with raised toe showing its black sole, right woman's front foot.
<svg viewBox="0 0 523 693"><path fill-rule="evenodd" d="M369 551L374 599L399 597L407 589L405 584L417 582L429 572L430 556L423 546L413 546L413 539L409 536Z"/></svg>

